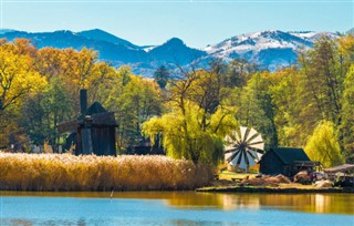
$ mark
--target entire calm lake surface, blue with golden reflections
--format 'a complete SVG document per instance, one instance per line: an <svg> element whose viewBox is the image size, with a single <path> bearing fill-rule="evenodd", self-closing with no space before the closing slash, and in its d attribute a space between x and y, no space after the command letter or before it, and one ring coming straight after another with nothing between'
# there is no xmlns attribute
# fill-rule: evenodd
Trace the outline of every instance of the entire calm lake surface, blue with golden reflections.
<svg viewBox="0 0 354 226"><path fill-rule="evenodd" d="M0 225L354 226L352 194L0 192Z"/></svg>

